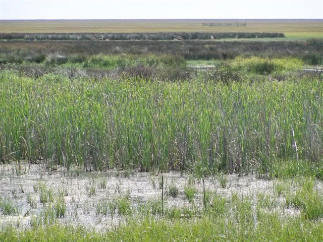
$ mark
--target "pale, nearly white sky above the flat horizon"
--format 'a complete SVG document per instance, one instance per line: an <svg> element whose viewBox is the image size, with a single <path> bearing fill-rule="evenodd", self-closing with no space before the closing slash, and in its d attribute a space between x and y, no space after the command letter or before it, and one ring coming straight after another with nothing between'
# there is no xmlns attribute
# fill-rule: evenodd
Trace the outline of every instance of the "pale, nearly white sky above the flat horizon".
<svg viewBox="0 0 323 242"><path fill-rule="evenodd" d="M0 20L323 19L323 0L0 0Z"/></svg>

